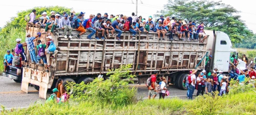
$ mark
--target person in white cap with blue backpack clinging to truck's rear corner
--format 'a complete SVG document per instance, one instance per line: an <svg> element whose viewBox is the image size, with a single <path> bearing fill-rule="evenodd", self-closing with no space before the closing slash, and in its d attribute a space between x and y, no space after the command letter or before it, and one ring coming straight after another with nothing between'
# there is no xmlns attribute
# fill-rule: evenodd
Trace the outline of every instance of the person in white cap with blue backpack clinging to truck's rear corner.
<svg viewBox="0 0 256 115"><path fill-rule="evenodd" d="M47 38L47 43L46 43L46 48L45 48L45 55L47 58L47 67L49 68L49 67L51 67L50 66L50 58L55 59L54 56L56 56L56 54L58 53L58 50L56 50L56 46L54 45L54 43L52 41L52 36L47 36L46 38ZM55 47L55 49L52 47ZM52 56L50 56L51 54L52 54Z"/></svg>

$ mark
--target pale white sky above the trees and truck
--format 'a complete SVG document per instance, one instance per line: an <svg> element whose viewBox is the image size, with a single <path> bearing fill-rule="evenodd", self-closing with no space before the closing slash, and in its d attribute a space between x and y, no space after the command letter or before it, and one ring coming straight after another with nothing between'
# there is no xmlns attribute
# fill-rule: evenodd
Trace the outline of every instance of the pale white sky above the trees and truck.
<svg viewBox="0 0 256 115"><path fill-rule="evenodd" d="M4 0L5 2L0 3L1 14L4 14L0 18L0 27L6 25L6 22L11 19L11 17L16 17L18 11L24 11L35 6L65 6L67 8L73 8L76 12L85 12L85 17L89 17L90 14L104 13L116 15L123 14L126 16L131 16L131 13L136 13L136 0L43 0L44 2L36 2L35 0ZM157 11L163 9L163 5L167 3L168 0L161 0L161 2L156 2L156 0L138 0L138 16L147 18L157 14ZM213 0L219 1L219 0ZM232 1L232 2L231 2ZM247 27L256 33L256 22L254 19L256 17L256 12L252 10L255 5L251 3L251 0L222 0L222 3L229 4L233 6L238 11L241 20L244 20ZM7 11L5 13L5 11Z"/></svg>

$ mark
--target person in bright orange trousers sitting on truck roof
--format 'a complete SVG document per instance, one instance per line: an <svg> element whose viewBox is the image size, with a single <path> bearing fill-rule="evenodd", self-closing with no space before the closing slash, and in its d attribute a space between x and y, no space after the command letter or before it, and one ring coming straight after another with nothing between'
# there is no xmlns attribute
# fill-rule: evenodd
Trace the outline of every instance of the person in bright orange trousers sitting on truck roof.
<svg viewBox="0 0 256 115"><path fill-rule="evenodd" d="M76 31L80 31L80 34L76 35L78 39L81 38L81 35L86 33L86 30L84 29L84 26L81 24L81 20L80 20L82 16L83 16L82 14L79 14L79 17L75 20Z"/></svg>

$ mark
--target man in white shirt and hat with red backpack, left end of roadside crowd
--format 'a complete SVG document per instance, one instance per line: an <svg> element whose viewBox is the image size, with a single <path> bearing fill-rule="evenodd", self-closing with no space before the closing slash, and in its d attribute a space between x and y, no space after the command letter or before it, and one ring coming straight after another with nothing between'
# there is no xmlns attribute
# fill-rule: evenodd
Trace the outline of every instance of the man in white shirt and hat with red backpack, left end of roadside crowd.
<svg viewBox="0 0 256 115"><path fill-rule="evenodd" d="M189 80L189 99L192 99L193 93L195 91L195 84L196 84L196 76L195 73L198 70L193 69L192 73L189 75L188 80Z"/></svg>

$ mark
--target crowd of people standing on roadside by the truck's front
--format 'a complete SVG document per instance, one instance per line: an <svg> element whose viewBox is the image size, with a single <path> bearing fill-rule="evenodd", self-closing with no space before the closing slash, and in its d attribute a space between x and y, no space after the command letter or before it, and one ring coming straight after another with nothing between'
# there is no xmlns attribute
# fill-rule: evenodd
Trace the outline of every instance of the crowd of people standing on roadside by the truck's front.
<svg viewBox="0 0 256 115"><path fill-rule="evenodd" d="M218 91L218 95L225 95L229 93L229 85L231 80L235 80L239 83L239 85L244 84L252 84L255 88L255 77L256 72L254 71L255 67L250 67L250 70L240 70L237 66L239 64L238 57L234 54L230 56L230 65L228 74L218 70L215 67L213 70L209 70L209 62L212 59L212 55L206 57L205 62L205 70L190 70L188 76L186 76L183 80L187 90L186 97L187 99L192 99L195 89L198 95L213 95L214 92ZM245 55L241 57L241 60L244 62L248 62L248 59ZM256 57L254 58L254 63L256 63ZM249 79L249 81L245 81L245 78ZM146 82L146 86L148 87L148 99L153 97L153 99L159 93L159 98L164 98L167 94L169 95L169 91L166 87L166 78L162 78L162 81L157 84L157 72L154 72L153 75L148 78Z"/></svg>

